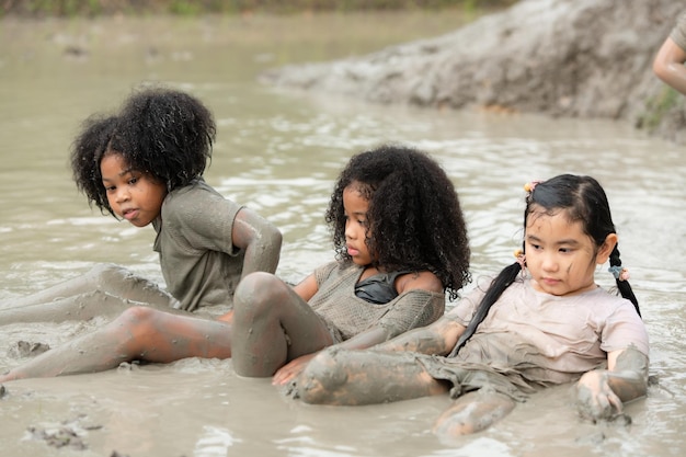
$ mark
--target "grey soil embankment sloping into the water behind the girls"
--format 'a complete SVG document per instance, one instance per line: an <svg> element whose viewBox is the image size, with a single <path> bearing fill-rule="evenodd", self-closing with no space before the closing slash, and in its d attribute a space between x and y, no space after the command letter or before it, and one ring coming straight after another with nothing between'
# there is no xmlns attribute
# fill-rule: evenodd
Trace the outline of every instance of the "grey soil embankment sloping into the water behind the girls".
<svg viewBox="0 0 686 457"><path fill-rule="evenodd" d="M626 119L686 144L686 98L651 68L683 9L673 0L523 0L444 36L261 79L375 103Z"/></svg>

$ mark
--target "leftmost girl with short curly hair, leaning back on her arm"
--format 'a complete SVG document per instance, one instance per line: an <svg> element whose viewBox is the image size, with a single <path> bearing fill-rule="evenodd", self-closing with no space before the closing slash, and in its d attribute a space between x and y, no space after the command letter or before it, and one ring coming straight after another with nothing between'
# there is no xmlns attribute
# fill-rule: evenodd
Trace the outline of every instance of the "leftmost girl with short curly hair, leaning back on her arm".
<svg viewBox="0 0 686 457"><path fill-rule="evenodd" d="M71 150L77 187L103 214L135 227L152 225L167 290L121 266L98 265L5 300L0 324L116 316L134 304L185 311L230 307L242 276L273 273L281 232L203 179L215 134L199 100L165 88L140 90L117 114L88 118Z"/></svg>

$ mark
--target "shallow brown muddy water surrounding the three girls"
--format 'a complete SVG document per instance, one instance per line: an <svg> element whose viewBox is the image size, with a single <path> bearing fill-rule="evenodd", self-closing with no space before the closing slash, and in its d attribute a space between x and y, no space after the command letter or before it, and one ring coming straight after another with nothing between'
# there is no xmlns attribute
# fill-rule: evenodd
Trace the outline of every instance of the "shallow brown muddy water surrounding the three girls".
<svg viewBox="0 0 686 457"><path fill-rule="evenodd" d="M207 181L282 229L278 274L290 281L331 259L323 210L336 173L361 149L399 141L441 160L468 218L475 277L512 261L524 182L595 175L610 198L659 379L647 399L627 405L630 425L580 421L563 386L484 433L445 442L430 432L444 397L309 407L285 400L267 380L238 378L230 361L185 359L8 384L2 455L683 455L684 148L605 121L369 106L254 82L273 66L367 53L461 20L414 13L0 22L0 299L103 261L162 281L152 229L90 209L70 181L67 151L88 114L116 107L144 81L164 81L215 112L218 142ZM609 279L598 271L599 283ZM0 369L23 361L10 350L19 340L57 345L100 323L3 327ZM70 445L58 448L68 436Z"/></svg>

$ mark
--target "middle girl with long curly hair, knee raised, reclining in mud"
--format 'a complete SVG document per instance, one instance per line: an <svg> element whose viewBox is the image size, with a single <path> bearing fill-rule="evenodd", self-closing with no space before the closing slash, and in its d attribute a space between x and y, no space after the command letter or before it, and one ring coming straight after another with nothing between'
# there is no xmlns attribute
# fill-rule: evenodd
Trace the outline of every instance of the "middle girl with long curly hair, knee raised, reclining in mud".
<svg viewBox="0 0 686 457"><path fill-rule="evenodd" d="M99 372L123 362L232 357L239 375L284 384L311 355L363 349L430 324L469 281L458 196L426 153L396 146L353 157L325 215L336 260L296 286L266 272L238 285L233 310L209 320L133 307L38 355L1 381Z"/></svg>

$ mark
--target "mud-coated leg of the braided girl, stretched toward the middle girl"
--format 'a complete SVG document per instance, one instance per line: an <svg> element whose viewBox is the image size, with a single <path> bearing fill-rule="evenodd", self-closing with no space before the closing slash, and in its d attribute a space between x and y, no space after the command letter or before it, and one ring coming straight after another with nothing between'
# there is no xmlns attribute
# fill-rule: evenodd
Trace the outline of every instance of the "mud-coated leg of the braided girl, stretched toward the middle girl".
<svg viewBox="0 0 686 457"><path fill-rule="evenodd" d="M296 389L307 403L353 405L439 395L448 385L432 378L413 354L331 347L310 361Z"/></svg>

